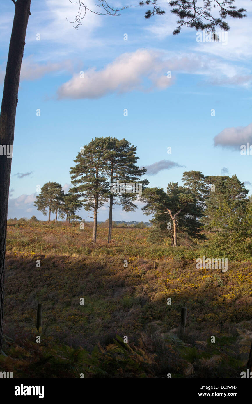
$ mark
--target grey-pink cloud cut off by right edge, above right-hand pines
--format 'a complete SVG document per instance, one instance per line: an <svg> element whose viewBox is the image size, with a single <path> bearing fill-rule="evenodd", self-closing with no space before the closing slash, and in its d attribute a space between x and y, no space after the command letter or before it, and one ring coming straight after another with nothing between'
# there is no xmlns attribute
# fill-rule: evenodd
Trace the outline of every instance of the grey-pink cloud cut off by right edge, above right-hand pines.
<svg viewBox="0 0 252 404"><path fill-rule="evenodd" d="M214 146L240 149L241 145L252 144L252 124L225 128L214 137Z"/></svg>

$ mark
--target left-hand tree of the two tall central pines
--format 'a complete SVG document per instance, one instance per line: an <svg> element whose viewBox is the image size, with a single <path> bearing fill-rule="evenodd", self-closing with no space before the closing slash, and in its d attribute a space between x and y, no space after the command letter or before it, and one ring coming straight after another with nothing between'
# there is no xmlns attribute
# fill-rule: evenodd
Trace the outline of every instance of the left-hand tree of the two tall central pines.
<svg viewBox="0 0 252 404"><path fill-rule="evenodd" d="M106 146L109 138L96 137L83 146L71 167L72 192L83 197L86 211L93 210L93 242L96 242L97 212L108 198L108 181L106 176Z"/></svg>

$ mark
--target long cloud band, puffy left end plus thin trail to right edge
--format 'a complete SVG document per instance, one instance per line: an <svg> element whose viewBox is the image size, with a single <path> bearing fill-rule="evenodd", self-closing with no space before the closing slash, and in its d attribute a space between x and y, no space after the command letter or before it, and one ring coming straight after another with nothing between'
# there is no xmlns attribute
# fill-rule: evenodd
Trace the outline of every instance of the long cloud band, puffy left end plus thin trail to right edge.
<svg viewBox="0 0 252 404"><path fill-rule="evenodd" d="M167 78L167 72L172 78ZM59 99L94 99L110 93L125 93L132 90L149 91L165 89L174 82L175 73L205 76L212 84L248 86L252 80L250 71L208 56L193 54L170 55L157 50L138 49L124 53L97 71L95 67L80 72L58 90ZM150 85L146 85L145 79Z"/></svg>

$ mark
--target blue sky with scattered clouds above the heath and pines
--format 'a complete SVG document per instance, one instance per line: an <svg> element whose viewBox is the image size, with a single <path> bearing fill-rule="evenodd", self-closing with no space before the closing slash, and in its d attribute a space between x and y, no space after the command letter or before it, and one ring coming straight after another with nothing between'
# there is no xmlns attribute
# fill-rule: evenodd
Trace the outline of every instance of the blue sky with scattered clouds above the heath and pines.
<svg viewBox="0 0 252 404"><path fill-rule="evenodd" d="M87 2L93 9L95 3ZM183 172L197 170L204 175L236 174L251 193L252 156L241 156L240 146L252 144L252 2L239 1L247 17L228 21L231 29L223 42L197 42L196 31L189 28L172 36L176 17L167 2L159 3L165 15L146 20L146 8L139 6L117 17L87 13L76 30L66 21L74 19L76 4L32 0L8 217L45 219L33 206L36 185L56 181L67 191L80 147L100 136L125 137L135 145L138 164L153 165L156 172L147 171L151 187L166 189L169 181L182 185ZM13 15L13 2L2 2L1 91ZM167 168L159 171L162 160L168 160L163 163ZM140 202L137 205L135 213L115 207L113 219L147 221ZM90 220L84 210L80 215ZM107 217L104 206L98 220Z"/></svg>

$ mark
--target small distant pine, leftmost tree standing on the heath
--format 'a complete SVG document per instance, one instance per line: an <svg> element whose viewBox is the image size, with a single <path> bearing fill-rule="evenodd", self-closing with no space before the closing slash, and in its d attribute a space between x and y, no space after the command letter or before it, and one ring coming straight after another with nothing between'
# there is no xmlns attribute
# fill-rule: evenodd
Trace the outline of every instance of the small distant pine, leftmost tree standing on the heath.
<svg viewBox="0 0 252 404"><path fill-rule="evenodd" d="M61 189L61 184L57 182L47 182L42 186L41 192L36 197L37 200L34 202L34 206L36 206L44 216L47 215L47 208L49 208L49 222L51 221L51 212L55 213L59 203L63 200L64 191L61 191Z"/></svg>

